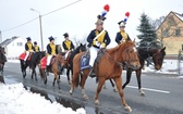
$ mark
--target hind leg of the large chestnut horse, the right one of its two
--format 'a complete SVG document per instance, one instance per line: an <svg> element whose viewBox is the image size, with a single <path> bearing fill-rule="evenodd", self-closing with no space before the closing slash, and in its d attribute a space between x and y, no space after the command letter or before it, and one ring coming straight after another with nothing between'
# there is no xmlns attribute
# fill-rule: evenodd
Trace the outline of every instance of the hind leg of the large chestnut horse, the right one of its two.
<svg viewBox="0 0 183 114"><path fill-rule="evenodd" d="M85 71L85 73L83 74L83 77L82 77L82 81L81 81L82 96L85 100L88 100L88 96L85 93L85 87L84 87L86 79L88 77L88 74L89 74L89 71Z"/></svg>

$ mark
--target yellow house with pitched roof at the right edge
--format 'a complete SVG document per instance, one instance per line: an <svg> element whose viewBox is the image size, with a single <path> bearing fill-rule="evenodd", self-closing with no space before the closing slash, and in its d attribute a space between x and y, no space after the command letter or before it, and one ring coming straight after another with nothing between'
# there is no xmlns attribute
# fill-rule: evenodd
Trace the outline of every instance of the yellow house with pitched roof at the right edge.
<svg viewBox="0 0 183 114"><path fill-rule="evenodd" d="M179 51L183 51L183 14L171 11L157 28L157 36L167 55L178 56Z"/></svg>

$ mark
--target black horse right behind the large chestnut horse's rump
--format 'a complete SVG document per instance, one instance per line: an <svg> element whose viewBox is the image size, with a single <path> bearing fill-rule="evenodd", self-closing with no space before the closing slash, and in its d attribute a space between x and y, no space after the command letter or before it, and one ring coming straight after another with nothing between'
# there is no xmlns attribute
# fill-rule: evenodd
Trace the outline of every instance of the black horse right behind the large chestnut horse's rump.
<svg viewBox="0 0 183 114"><path fill-rule="evenodd" d="M71 85L71 80L70 80L70 71L73 74L73 59L75 56L75 54L80 53L80 52L84 52L86 51L86 43L85 45L80 45L74 51L71 51L71 54L69 54L66 61L66 76L68 76L68 83Z"/></svg>

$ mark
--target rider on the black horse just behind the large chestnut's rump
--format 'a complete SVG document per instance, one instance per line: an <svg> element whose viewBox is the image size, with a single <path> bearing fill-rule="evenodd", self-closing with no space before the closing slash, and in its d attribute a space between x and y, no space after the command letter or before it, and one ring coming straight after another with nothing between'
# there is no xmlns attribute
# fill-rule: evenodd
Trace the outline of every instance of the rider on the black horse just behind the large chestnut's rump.
<svg viewBox="0 0 183 114"><path fill-rule="evenodd" d="M70 51L73 49L74 50L74 45L73 42L69 39L69 34L65 33L63 34L65 40L62 42L63 49L65 50L65 59L68 58L68 54L70 53Z"/></svg>

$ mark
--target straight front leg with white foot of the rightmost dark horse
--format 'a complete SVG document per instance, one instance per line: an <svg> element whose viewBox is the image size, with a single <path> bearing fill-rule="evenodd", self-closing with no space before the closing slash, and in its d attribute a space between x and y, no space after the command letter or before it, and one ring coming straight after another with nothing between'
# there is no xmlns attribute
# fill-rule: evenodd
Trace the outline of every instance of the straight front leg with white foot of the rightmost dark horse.
<svg viewBox="0 0 183 114"><path fill-rule="evenodd" d="M136 71L136 79L137 79L137 84L138 84L138 91L141 93L141 96L145 96L145 92L142 90L141 74L142 74L142 69Z"/></svg>

